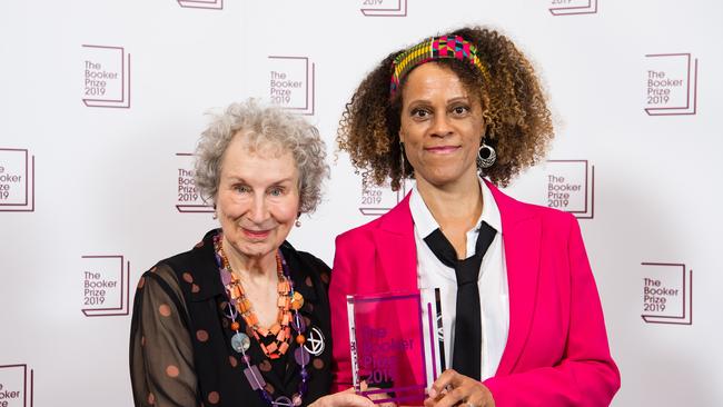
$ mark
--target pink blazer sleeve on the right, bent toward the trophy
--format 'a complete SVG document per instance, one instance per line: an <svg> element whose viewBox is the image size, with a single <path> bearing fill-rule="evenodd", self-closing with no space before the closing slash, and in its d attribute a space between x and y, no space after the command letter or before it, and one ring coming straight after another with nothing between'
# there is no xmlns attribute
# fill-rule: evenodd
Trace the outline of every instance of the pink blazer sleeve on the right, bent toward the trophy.
<svg viewBox="0 0 723 407"><path fill-rule="evenodd" d="M603 310L580 225L570 216L570 320L563 358L552 367L533 368L484 381L496 407L608 406L620 388L620 371L607 345Z"/></svg>

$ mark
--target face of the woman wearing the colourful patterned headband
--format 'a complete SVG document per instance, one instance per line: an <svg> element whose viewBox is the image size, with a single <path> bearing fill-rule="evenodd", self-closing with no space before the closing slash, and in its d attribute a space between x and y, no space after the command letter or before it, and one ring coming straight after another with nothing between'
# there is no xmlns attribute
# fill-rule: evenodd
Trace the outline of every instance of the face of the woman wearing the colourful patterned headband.
<svg viewBox="0 0 723 407"><path fill-rule="evenodd" d="M482 106L457 75L424 63L409 72L402 100L399 138L417 181L443 187L476 177Z"/></svg>

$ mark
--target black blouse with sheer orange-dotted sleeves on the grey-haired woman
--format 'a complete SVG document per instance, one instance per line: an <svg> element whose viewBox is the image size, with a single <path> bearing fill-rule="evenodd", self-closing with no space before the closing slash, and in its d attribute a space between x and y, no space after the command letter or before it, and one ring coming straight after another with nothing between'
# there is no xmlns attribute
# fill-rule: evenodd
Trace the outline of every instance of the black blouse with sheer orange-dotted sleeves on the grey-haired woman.
<svg viewBox="0 0 723 407"><path fill-rule="evenodd" d="M230 345L234 331L214 252L212 237L218 231L206 234L190 251L160 261L138 282L130 328L130 378L137 407L268 406L251 389L244 374L246 364ZM300 315L308 339L303 346L310 354L306 406L328 394L331 383L329 268L286 241L281 254L294 288L305 300ZM244 319L237 320L246 331ZM299 345L291 340L281 358L269 360L249 336L247 355L258 366L266 390L279 405L290 404L301 381L294 357Z"/></svg>

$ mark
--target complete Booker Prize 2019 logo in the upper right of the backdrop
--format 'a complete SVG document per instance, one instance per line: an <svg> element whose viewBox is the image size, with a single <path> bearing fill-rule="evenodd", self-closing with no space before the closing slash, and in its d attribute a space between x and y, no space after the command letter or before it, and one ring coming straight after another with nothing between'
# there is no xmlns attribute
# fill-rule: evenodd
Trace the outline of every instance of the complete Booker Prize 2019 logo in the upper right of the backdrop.
<svg viewBox="0 0 723 407"><path fill-rule="evenodd" d="M646 54L645 112L650 116L695 115L697 58L690 53Z"/></svg>

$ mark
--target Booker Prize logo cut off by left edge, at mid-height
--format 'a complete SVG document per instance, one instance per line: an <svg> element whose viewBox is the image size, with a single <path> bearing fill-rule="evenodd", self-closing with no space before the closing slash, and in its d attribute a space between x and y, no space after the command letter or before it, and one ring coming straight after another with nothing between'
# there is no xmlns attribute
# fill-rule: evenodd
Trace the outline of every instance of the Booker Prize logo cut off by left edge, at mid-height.
<svg viewBox="0 0 723 407"><path fill-rule="evenodd" d="M26 149L0 148L0 211L34 210L36 157Z"/></svg>

